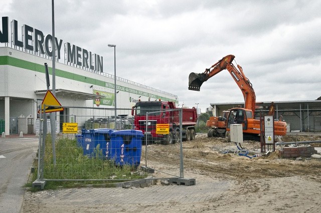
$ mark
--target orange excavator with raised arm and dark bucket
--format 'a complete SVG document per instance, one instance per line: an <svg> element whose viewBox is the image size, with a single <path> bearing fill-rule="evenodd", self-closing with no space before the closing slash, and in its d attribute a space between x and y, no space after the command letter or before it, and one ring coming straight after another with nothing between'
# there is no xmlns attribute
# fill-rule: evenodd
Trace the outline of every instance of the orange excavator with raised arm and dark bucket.
<svg viewBox="0 0 321 213"><path fill-rule="evenodd" d="M243 137L251 140L259 140L261 133L260 131L260 120L254 118L255 112L255 92L252 87L252 83L245 76L243 69L240 65L237 68L234 66L232 61L234 60L234 55L227 55L219 60L217 63L213 64L210 68L206 68L203 73L191 72L189 75L189 89L200 91L200 87L203 82L207 81L209 78L213 77L220 71L227 69L231 74L232 78L235 80L236 84L241 89L244 96L244 108L236 107L230 109L227 113L226 118L221 118L222 121L225 120L225 128L220 127L212 131L213 136L218 133L219 135L224 132L228 133L230 131L231 124L242 124L243 126ZM222 123L221 123L222 125ZM217 130L219 130L217 132ZM214 132L216 131L216 132ZM211 134L208 132L208 136ZM275 135L285 135L286 134L286 122L275 120L274 121L274 134Z"/></svg>

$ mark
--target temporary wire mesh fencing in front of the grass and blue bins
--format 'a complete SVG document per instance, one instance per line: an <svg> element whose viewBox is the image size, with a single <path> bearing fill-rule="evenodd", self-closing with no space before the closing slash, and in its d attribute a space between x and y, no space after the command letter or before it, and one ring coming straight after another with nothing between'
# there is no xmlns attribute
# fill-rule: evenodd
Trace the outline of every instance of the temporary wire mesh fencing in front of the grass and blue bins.
<svg viewBox="0 0 321 213"><path fill-rule="evenodd" d="M150 138L143 131L134 129L131 108L117 108L121 116L115 118L112 108L62 107L72 114L77 133L65 133L64 125L70 124L70 116L57 113L56 120L62 125L52 143L47 132L47 125L50 125L47 122L48 115L41 113L39 181L141 180L150 175L148 172L153 172L150 179L184 177L182 111L177 113L176 118L180 122L175 128L171 125L169 134ZM148 114L151 113L146 113L147 123ZM66 122L60 120L65 117ZM168 150L171 150L170 155Z"/></svg>

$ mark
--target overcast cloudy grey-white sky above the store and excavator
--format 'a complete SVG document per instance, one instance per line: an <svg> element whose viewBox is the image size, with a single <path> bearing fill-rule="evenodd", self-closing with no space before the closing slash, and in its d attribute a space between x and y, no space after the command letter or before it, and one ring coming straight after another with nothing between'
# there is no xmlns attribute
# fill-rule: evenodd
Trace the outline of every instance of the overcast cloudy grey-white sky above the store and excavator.
<svg viewBox="0 0 321 213"><path fill-rule="evenodd" d="M51 34L51 0L0 13ZM177 94L180 106L242 102L227 70L188 90L190 72L235 55L257 101L321 96L320 0L56 0L55 35L103 56L104 72ZM235 63L236 64L236 63Z"/></svg>

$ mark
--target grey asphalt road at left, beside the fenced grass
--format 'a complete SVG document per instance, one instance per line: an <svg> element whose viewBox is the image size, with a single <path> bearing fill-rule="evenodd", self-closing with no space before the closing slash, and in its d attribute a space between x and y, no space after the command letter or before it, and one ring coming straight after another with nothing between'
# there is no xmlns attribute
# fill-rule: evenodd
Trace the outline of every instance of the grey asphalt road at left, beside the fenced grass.
<svg viewBox="0 0 321 213"><path fill-rule="evenodd" d="M38 137L0 137L0 211L20 212Z"/></svg>

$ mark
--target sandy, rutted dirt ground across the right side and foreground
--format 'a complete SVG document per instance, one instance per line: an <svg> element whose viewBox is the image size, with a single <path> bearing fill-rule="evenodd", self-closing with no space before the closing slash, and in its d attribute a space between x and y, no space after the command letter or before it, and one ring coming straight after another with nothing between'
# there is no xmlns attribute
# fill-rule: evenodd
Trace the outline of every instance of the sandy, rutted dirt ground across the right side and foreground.
<svg viewBox="0 0 321 213"><path fill-rule="evenodd" d="M321 134L298 133L282 137L283 142L307 140L321 140ZM321 143L303 145L312 145L319 150L318 154L321 152ZM145 203L142 199L141 203L121 206L115 202L95 207L75 207L75 200L68 201L58 196L56 199L46 200L42 199L41 193L44 192L26 192L22 212L321 212L320 159L281 158L277 150L284 145L275 146L275 152L250 158L248 156L261 153L260 143L244 141L241 146L249 151L247 156L239 155L236 145L227 142L226 138L208 138L207 134L198 134L195 140L183 142L185 176L196 178L196 185L181 186L185 187L185 192L180 195L184 197L186 194L188 197L194 194L192 201L180 198ZM168 153L170 150L163 146L161 151L169 157L157 158L155 154L153 160L171 163L171 153ZM214 190L212 193L204 191L203 196L198 191L222 182L227 183L228 187L219 193ZM132 190L137 190L137 196L145 193L148 199L157 191L163 191L159 187L167 186L157 184L146 187L150 188L149 191L143 188ZM126 190L129 193L128 189L119 190L123 190L121 193L126 193ZM173 194L177 188L170 186L164 190ZM195 192L190 194L193 190Z"/></svg>

